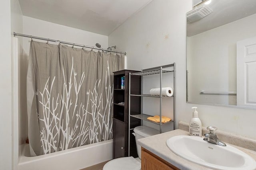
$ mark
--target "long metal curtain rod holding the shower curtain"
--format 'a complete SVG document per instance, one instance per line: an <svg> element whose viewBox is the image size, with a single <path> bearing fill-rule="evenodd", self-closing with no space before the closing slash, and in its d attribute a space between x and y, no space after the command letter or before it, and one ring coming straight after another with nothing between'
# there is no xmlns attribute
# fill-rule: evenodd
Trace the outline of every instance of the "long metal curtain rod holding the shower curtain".
<svg viewBox="0 0 256 170"><path fill-rule="evenodd" d="M32 35L20 34L20 33L15 33L15 32L13 33L13 35L14 35L14 37L15 36L28 37L28 38L31 38L31 39L34 38L34 39L41 39L41 40L45 40L45 41L59 42L59 43L62 43L62 44L68 44L68 45L73 45L73 46L75 45L75 46L79 46L79 47L86 47L86 48L97 49L97 50L102 50L102 51L110 51L110 52L113 52L113 53L120 53L120 54L124 54L124 55L127 54L126 52L122 52L122 51L112 51L112 50L102 49L102 48L98 48L98 47L92 47L92 46L88 46L88 45L68 43L68 42L65 42L65 41L59 41L59 40L55 40L55 39L36 37L36 36L32 36Z"/></svg>

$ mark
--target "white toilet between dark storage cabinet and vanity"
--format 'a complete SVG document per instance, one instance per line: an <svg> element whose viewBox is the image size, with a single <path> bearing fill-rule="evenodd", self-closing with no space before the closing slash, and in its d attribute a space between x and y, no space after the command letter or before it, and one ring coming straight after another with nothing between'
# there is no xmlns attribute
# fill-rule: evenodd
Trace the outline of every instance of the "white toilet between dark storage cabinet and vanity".
<svg viewBox="0 0 256 170"><path fill-rule="evenodd" d="M132 134L135 136L137 153L139 157L134 158L130 156L130 157L122 157L122 158L116 158L116 159L110 160L104 165L103 170L140 170L141 169L141 163L140 163L141 147L140 145L138 145L137 140L144 137L149 137L149 136L159 134L159 131L147 126L138 126L134 128L134 133Z"/></svg>

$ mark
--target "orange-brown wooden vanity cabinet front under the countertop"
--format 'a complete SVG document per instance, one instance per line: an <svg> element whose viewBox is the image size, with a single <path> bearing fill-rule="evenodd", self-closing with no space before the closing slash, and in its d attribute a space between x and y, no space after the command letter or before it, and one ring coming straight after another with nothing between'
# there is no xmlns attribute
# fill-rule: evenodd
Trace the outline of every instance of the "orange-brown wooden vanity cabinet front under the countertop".
<svg viewBox="0 0 256 170"><path fill-rule="evenodd" d="M141 170L180 170L152 152L141 148Z"/></svg>

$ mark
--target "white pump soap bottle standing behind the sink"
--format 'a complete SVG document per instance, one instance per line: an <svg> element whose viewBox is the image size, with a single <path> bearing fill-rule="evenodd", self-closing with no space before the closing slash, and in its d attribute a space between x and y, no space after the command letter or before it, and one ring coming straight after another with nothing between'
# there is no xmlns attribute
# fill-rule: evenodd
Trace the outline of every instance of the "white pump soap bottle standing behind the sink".
<svg viewBox="0 0 256 170"><path fill-rule="evenodd" d="M192 109L194 109L194 111L193 111L193 117L189 123L189 135L201 137L202 136L202 123L201 123L200 119L198 118L198 112L196 111L197 107L192 107Z"/></svg>

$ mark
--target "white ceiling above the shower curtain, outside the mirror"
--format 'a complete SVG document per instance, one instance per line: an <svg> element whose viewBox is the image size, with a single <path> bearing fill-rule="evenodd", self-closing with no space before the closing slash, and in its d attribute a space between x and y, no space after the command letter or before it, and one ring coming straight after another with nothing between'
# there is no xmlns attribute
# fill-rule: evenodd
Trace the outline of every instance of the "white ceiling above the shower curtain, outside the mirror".
<svg viewBox="0 0 256 170"><path fill-rule="evenodd" d="M151 0L19 0L24 16L109 35Z"/></svg>

